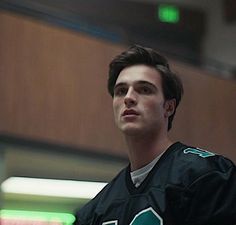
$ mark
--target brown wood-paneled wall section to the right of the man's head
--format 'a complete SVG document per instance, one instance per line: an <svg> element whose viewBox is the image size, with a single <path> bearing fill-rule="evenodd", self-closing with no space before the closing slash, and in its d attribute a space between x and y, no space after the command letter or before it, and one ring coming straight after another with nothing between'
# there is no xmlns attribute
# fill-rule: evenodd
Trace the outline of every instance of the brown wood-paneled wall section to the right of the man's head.
<svg viewBox="0 0 236 225"><path fill-rule="evenodd" d="M185 87L173 138L221 153L236 162L236 81L174 63Z"/></svg>

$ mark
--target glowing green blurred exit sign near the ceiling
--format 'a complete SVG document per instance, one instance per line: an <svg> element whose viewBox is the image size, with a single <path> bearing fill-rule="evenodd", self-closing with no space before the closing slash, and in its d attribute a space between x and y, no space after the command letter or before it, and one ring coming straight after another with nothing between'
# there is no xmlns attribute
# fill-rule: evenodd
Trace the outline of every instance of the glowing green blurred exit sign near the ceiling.
<svg viewBox="0 0 236 225"><path fill-rule="evenodd" d="M180 19L179 8L173 5L161 4L158 6L158 19L165 23L178 23Z"/></svg>

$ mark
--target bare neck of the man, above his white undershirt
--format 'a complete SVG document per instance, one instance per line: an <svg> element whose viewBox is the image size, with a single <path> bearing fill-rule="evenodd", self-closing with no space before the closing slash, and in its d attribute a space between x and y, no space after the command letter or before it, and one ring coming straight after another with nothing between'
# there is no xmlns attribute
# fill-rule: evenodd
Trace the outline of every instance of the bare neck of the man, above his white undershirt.
<svg viewBox="0 0 236 225"><path fill-rule="evenodd" d="M128 145L131 171L147 165L173 144L167 135L164 137L125 136L125 139Z"/></svg>

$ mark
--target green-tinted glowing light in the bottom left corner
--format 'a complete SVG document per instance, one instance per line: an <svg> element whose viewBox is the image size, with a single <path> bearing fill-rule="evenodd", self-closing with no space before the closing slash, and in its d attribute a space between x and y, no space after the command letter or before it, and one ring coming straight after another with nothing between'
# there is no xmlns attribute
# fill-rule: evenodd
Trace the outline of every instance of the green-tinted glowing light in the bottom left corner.
<svg viewBox="0 0 236 225"><path fill-rule="evenodd" d="M56 224L71 225L75 221L75 216L70 213L55 213L25 210L0 210L1 224ZM37 223L38 222L38 223Z"/></svg>

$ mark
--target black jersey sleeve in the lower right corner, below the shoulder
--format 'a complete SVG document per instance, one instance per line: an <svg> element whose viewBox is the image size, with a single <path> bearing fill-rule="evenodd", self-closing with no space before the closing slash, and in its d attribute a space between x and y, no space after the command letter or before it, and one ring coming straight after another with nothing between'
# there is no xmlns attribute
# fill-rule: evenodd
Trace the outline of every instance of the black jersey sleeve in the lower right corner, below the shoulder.
<svg viewBox="0 0 236 225"><path fill-rule="evenodd" d="M197 178L186 192L186 225L236 225L236 167L232 163ZM185 201L186 203L186 201Z"/></svg>

